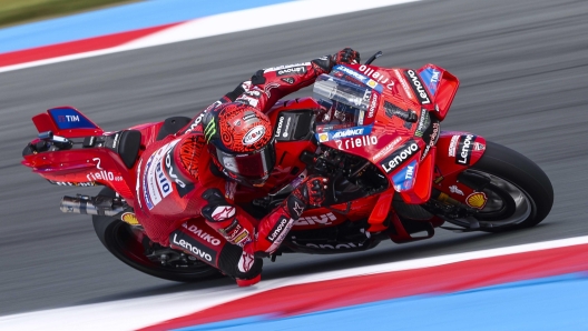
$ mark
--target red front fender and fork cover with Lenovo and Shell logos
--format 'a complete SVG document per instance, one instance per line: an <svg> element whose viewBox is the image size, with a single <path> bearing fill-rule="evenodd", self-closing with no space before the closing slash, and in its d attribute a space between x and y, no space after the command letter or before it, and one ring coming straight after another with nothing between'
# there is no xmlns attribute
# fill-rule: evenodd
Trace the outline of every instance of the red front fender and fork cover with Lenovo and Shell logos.
<svg viewBox="0 0 588 331"><path fill-rule="evenodd" d="M469 132L442 131L437 151L434 188L471 208L482 209L486 194L459 182L458 175L480 160L486 139Z"/></svg>

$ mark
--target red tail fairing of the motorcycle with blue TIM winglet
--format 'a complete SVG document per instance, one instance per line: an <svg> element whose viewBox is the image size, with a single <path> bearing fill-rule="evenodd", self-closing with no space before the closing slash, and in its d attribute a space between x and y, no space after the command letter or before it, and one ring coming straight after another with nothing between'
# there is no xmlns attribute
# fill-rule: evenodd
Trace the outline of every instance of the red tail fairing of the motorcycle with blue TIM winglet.
<svg viewBox="0 0 588 331"><path fill-rule="evenodd" d="M84 146L86 142L81 142L81 147L75 144L71 149L50 153L32 151L23 154L24 160L21 162L23 165L32 168L33 172L55 184L107 185L118 192L130 205L134 205L136 164L128 169L116 151L119 134L124 131L104 132L80 111L71 107L49 109L47 113L33 117L33 122L39 133L51 131L53 136L80 140L84 138L85 141L97 141L98 138L102 137L105 142L91 142L91 146ZM146 146L156 140L161 124L163 122L144 123L128 129L140 132L138 156ZM40 139L35 139L31 144L35 146L40 141Z"/></svg>

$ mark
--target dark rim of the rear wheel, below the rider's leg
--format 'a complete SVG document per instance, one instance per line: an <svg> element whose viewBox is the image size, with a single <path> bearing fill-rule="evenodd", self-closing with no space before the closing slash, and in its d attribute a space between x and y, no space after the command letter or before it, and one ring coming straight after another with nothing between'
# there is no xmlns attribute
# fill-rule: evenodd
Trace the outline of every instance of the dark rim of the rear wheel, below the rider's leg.
<svg viewBox="0 0 588 331"><path fill-rule="evenodd" d="M184 275L210 273L212 267L198 260L189 260L189 263L176 267L160 264L149 260L145 255L145 249L143 244L138 242L130 227L120 220L111 224L110 232L110 248L115 254L121 258L121 260L126 260L127 263L131 263L139 268L153 271L163 271Z"/></svg>

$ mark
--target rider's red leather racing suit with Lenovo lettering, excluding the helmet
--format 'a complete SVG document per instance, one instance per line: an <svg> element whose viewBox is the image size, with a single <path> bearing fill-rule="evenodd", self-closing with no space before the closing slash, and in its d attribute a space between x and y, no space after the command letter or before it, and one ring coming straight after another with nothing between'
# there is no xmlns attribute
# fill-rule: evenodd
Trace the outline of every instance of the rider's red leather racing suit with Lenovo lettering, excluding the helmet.
<svg viewBox="0 0 588 331"><path fill-rule="evenodd" d="M176 134L150 144L139 159L136 215L147 235L165 247L196 255L235 277L253 263L242 258L243 247L274 252L306 205L286 199L257 221L234 204L237 184L215 171L200 123L206 112L225 102L244 102L267 112L282 97L314 82L334 66L331 57L257 71L251 80L209 106ZM197 147L190 164L183 164L186 147ZM194 164L197 162L197 164ZM189 171L187 169L190 169ZM253 257L253 255L251 255ZM241 264L237 265L241 259Z"/></svg>

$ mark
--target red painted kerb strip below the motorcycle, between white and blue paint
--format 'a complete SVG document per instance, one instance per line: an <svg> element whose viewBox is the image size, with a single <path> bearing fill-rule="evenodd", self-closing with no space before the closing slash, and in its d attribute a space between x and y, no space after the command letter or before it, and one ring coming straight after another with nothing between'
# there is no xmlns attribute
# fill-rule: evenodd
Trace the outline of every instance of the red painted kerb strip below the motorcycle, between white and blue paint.
<svg viewBox="0 0 588 331"><path fill-rule="evenodd" d="M588 244L274 289L140 330L169 330L262 314L288 317L419 294L451 293L588 271Z"/></svg>

